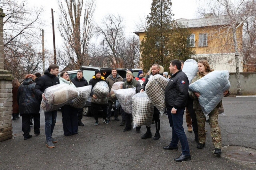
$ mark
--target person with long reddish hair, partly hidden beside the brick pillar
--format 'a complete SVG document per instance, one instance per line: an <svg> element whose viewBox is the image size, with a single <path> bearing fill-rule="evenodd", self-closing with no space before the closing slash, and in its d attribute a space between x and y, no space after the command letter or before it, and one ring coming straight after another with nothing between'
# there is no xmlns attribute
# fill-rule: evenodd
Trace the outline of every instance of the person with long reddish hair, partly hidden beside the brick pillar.
<svg viewBox="0 0 256 170"><path fill-rule="evenodd" d="M19 105L17 102L17 92L18 88L20 86L20 83L18 79L14 79L12 81L12 120L19 119Z"/></svg>

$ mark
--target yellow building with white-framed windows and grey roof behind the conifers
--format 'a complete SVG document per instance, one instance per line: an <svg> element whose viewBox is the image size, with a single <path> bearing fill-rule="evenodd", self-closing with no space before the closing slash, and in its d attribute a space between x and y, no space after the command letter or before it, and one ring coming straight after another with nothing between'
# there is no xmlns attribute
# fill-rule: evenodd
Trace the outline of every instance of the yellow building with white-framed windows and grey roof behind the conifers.
<svg viewBox="0 0 256 170"><path fill-rule="evenodd" d="M235 51L233 33L229 27L229 16L217 16L212 14L205 15L198 19L178 19L178 23L185 25L190 32L191 48L194 48L195 59L205 59L215 70L229 70L236 72ZM243 72L242 64L242 27L236 31L238 49L240 53L240 72ZM139 36L140 42L145 36L146 30L134 32ZM141 55L140 55L141 57Z"/></svg>

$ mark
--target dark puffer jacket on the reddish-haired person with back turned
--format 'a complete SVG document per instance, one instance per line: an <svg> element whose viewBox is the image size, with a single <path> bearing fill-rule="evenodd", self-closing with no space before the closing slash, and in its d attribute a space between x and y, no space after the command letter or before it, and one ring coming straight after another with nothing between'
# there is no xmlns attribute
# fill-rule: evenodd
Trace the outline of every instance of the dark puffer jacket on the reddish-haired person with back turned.
<svg viewBox="0 0 256 170"><path fill-rule="evenodd" d="M25 79L18 88L17 100L20 114L38 113L40 101L34 93L36 83L31 78Z"/></svg>

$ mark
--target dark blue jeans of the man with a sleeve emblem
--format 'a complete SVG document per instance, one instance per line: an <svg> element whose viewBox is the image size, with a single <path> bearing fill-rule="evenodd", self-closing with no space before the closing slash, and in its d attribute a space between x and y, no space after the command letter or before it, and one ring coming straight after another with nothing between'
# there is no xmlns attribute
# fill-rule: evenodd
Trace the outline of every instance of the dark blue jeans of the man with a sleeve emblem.
<svg viewBox="0 0 256 170"><path fill-rule="evenodd" d="M190 155L187 136L184 132L183 124L183 114L184 109L177 109L176 114L171 113L172 109L167 108L167 114L169 118L170 126L172 127L172 140L170 146L176 147L180 140L181 150L183 155Z"/></svg>

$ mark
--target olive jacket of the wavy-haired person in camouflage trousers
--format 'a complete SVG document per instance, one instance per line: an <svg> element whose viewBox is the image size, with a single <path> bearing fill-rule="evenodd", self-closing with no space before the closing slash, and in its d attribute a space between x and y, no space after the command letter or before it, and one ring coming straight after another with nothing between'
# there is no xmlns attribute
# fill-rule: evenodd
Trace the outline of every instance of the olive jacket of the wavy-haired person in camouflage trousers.
<svg viewBox="0 0 256 170"><path fill-rule="evenodd" d="M210 69L210 72L213 72L214 69ZM210 73L208 72L208 74ZM200 72L197 72L196 76L192 79L191 81L191 84L194 83L195 81L201 79L202 77L204 77L205 75L201 74ZM228 90L228 94L226 94L224 97L227 97L230 95L230 90ZM193 109L194 110L202 110L201 106L200 106L200 103L198 101L198 98L197 96L195 95L194 92L190 91L189 92L189 96L190 98L194 99L193 101ZM222 105L222 100L218 103L218 105L216 106L216 109L218 109L219 107L223 107Z"/></svg>

